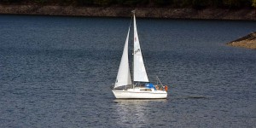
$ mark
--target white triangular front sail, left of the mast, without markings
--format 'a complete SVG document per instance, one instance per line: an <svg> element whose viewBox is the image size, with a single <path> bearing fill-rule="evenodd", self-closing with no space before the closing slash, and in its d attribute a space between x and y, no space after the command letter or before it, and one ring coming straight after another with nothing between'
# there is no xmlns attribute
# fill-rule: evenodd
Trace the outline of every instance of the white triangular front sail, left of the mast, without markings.
<svg viewBox="0 0 256 128"><path fill-rule="evenodd" d="M122 55L122 59L119 65L119 72L114 84L114 88L131 84L131 74L129 68L129 58L128 58L128 40L129 40L130 27L125 40L125 47Z"/></svg>

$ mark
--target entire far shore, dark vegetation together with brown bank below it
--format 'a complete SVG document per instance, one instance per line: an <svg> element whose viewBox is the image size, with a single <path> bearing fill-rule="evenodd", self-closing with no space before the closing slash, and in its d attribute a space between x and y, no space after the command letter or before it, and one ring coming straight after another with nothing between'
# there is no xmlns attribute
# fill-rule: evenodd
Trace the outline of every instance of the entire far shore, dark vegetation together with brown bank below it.
<svg viewBox="0 0 256 128"><path fill-rule="evenodd" d="M256 20L256 0L0 0L0 14Z"/></svg>

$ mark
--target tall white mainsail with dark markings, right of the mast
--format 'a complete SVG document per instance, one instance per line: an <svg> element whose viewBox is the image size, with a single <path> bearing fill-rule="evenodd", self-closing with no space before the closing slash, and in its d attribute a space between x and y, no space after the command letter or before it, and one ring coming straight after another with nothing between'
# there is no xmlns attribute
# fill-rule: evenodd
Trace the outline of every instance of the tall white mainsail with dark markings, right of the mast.
<svg viewBox="0 0 256 128"><path fill-rule="evenodd" d="M148 75L143 62L143 54L137 35L137 25L135 14L133 15L134 25L134 49L133 49L133 80L140 82L148 82Z"/></svg>

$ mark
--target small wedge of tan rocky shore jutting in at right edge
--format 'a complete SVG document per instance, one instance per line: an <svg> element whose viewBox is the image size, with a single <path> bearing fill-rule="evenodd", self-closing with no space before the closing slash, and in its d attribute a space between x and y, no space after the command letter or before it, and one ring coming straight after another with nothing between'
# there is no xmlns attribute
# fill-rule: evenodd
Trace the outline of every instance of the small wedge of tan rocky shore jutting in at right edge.
<svg viewBox="0 0 256 128"><path fill-rule="evenodd" d="M252 32L245 37L238 38L228 43L228 45L247 49L256 49L256 32Z"/></svg>

